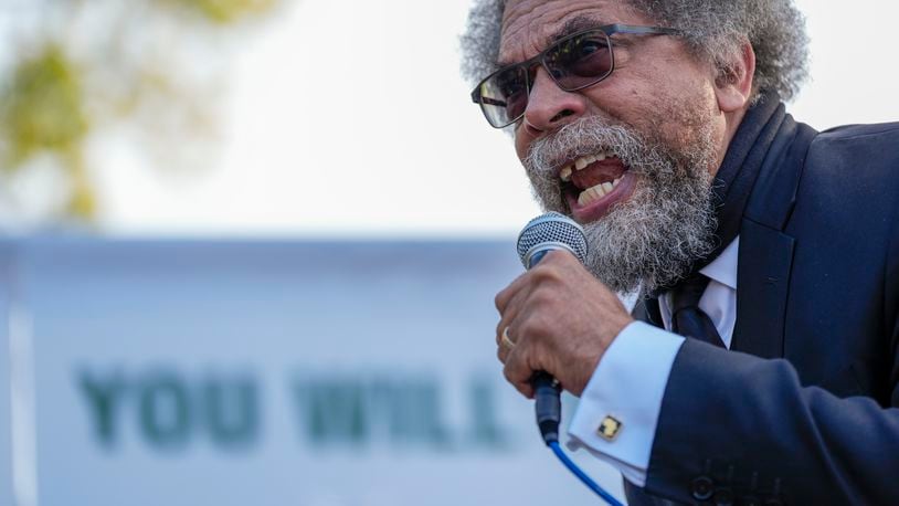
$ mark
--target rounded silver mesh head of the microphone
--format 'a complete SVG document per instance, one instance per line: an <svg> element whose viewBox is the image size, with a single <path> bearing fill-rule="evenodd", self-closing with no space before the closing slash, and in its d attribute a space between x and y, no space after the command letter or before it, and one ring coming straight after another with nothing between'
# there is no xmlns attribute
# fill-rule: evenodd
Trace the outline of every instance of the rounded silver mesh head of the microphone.
<svg viewBox="0 0 899 506"><path fill-rule="evenodd" d="M541 214L521 230L518 235L518 256L526 268L530 259L544 250L568 250L581 263L586 261L584 230L574 220L558 212Z"/></svg>

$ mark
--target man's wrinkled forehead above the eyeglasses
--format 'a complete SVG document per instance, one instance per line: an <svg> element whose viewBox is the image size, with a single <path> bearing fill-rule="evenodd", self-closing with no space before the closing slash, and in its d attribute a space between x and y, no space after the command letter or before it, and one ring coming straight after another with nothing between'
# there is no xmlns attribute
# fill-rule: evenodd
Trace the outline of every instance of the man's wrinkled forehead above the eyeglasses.
<svg viewBox="0 0 899 506"><path fill-rule="evenodd" d="M591 23L592 22L592 23ZM624 0L508 0L499 62L526 60L573 30L612 23L647 24Z"/></svg>

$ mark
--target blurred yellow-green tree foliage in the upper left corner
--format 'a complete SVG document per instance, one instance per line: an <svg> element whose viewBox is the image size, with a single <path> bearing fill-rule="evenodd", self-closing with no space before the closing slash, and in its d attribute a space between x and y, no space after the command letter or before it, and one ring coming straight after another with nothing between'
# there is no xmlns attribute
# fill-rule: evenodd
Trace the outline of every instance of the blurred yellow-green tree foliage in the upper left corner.
<svg viewBox="0 0 899 506"><path fill-rule="evenodd" d="M191 54L200 45L218 51L229 33L244 34L241 25L284 1L36 2L35 18L62 21L44 30L23 30L30 36L13 39L12 65L0 68L0 187L34 170L31 162L44 157L59 169L52 190L65 190L65 202L45 220L92 221L98 212L88 170L95 160L86 149L92 136L128 124L149 133L168 157L195 145L192 140L203 124L213 122L211 88L221 80L190 82L186 76L194 71L194 62L179 50ZM102 31L96 22L85 22L101 19ZM186 40L194 48L179 46ZM3 199L10 200L9 194L0 192L0 203ZM6 202L6 208L15 204Z"/></svg>

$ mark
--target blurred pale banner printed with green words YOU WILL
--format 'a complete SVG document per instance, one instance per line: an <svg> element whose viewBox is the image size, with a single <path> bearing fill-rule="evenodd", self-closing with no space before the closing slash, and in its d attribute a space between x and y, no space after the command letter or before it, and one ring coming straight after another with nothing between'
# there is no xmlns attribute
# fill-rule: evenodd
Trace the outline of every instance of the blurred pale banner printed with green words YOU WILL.
<svg viewBox="0 0 899 506"><path fill-rule="evenodd" d="M17 488L0 503L599 502L496 361L511 241L2 252L0 491ZM621 495L616 473L577 458Z"/></svg>

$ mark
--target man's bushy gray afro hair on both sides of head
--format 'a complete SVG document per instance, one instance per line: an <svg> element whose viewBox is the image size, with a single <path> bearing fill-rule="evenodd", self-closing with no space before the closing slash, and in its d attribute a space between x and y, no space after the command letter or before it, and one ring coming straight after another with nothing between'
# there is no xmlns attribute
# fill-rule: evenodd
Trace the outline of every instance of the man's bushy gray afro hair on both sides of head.
<svg viewBox="0 0 899 506"><path fill-rule="evenodd" d="M808 75L805 18L793 0L627 0L662 25L684 31L690 51L728 75L744 41L755 51L755 91L789 101ZM461 38L463 75L496 70L505 0L475 0Z"/></svg>

